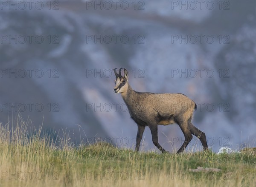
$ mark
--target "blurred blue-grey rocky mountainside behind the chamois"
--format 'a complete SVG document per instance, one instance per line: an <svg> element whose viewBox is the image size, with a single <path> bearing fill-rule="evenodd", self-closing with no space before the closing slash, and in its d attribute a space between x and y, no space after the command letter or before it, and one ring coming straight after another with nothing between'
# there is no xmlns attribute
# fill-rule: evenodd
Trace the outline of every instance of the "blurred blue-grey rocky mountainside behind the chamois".
<svg viewBox="0 0 256 187"><path fill-rule="evenodd" d="M95 1L44 3L41 10L1 4L0 122L20 111L46 131L70 130L74 142L81 135L132 147L137 125L113 93L112 69L125 67L136 91L193 99L193 123L213 150L255 146L255 2L212 10L175 2L128 2L127 9L112 2L109 10L107 3L91 6ZM158 134L170 151L184 140L176 125ZM154 148L150 131L144 135L143 150Z"/></svg>

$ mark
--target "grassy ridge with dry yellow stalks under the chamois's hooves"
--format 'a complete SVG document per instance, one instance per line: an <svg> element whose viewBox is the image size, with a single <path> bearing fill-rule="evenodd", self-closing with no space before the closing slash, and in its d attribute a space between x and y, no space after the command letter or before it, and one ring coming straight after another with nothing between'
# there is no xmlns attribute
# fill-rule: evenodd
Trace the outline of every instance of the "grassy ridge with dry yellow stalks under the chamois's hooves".
<svg viewBox="0 0 256 187"><path fill-rule="evenodd" d="M136 153L100 142L56 147L20 116L0 125L0 186L255 186L256 154ZM12 140L12 141L10 141ZM60 148L61 147L61 148ZM191 171L203 167L199 172ZM211 168L204 170L205 168ZM216 171L220 169L220 171Z"/></svg>

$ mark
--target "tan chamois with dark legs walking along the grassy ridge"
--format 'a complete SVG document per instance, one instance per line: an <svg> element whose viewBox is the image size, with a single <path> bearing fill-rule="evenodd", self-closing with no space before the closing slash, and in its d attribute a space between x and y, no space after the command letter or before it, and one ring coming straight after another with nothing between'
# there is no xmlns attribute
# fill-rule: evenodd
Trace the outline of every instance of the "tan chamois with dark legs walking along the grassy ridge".
<svg viewBox="0 0 256 187"><path fill-rule="evenodd" d="M118 74L116 69L113 69L116 76L114 91L116 94L121 94L131 118L138 125L136 151L140 149L143 132L148 126L154 145L162 153L166 152L158 143L157 125L173 123L180 126L185 136L185 141L177 153L185 150L192 139L192 134L200 139L204 150L208 149L205 133L198 130L191 122L193 111L197 108L194 101L184 94L154 94L134 91L128 83L128 71L124 69L124 76L122 76L121 70L123 68L119 69Z"/></svg>

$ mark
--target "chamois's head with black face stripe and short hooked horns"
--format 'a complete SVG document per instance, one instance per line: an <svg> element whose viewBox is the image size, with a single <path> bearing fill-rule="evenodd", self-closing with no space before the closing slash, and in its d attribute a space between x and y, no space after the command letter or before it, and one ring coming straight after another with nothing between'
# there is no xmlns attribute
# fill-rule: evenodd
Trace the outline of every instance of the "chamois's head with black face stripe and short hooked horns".
<svg viewBox="0 0 256 187"><path fill-rule="evenodd" d="M114 68L114 72L116 75L116 80L115 80L115 84L116 86L114 87L114 91L116 94L122 94L125 93L127 91L128 88L128 71L126 69L124 69L124 76L122 76L121 74L121 70L123 68L119 69L119 73L116 73L116 69Z"/></svg>

